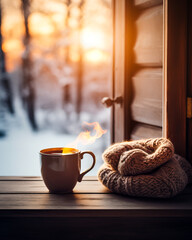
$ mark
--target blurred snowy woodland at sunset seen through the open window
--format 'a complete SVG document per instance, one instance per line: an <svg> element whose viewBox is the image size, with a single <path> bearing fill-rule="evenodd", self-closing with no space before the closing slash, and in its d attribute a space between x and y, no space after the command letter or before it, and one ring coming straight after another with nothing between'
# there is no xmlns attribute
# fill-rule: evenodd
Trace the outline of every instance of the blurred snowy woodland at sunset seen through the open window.
<svg viewBox="0 0 192 240"><path fill-rule="evenodd" d="M110 145L110 0L1 0L0 175L40 176L39 151L65 147L98 122L107 130L81 151ZM95 132L89 128L91 135ZM82 171L91 165L85 155Z"/></svg>

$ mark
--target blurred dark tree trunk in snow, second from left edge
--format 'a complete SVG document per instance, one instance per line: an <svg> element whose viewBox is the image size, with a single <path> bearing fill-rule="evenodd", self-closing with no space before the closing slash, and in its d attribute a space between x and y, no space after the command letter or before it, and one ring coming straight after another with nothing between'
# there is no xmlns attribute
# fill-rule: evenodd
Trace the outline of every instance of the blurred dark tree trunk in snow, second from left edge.
<svg viewBox="0 0 192 240"><path fill-rule="evenodd" d="M25 23L25 37L24 45L25 52L23 54L23 81L21 95L23 99L24 106L26 107L29 122L33 130L37 130L37 123L35 119L35 87L34 87L34 78L32 74L32 60L31 60L31 50L30 50L30 33L28 19L30 15L30 0L21 0L22 1L22 10L24 15Z"/></svg>

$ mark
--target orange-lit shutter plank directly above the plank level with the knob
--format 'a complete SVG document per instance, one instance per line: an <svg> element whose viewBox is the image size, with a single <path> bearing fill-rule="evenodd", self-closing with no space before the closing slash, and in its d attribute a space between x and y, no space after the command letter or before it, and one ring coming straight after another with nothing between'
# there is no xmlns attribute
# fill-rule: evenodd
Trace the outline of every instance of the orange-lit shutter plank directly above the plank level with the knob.
<svg viewBox="0 0 192 240"><path fill-rule="evenodd" d="M148 66L162 66L163 5L143 11L135 23L135 62Z"/></svg>

